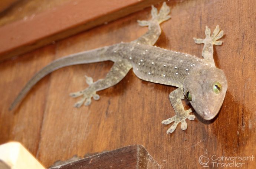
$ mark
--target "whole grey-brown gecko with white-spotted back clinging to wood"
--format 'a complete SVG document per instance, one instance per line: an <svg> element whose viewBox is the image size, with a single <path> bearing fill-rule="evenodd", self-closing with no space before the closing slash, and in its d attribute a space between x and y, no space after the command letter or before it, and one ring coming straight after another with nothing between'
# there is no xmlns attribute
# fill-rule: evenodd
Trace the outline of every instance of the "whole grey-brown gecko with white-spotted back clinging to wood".
<svg viewBox="0 0 256 169"><path fill-rule="evenodd" d="M206 26L206 38L194 38L196 44L204 44L202 51L204 59L163 49L154 44L161 34L160 24L170 19L170 7L165 2L159 11L156 7L151 7L152 18L148 21L138 20L140 26L148 26L148 31L144 35L131 42L121 42L79 52L49 63L27 82L11 104L10 110L22 101L40 79L54 70L70 65L112 61L114 65L104 79L93 82L92 77L85 76L89 86L81 91L70 93L71 97L82 98L74 104L74 107L81 107L82 104L89 106L92 98L99 100L100 97L96 92L119 83L132 69L142 80L177 87L169 94L175 115L162 121L165 125L174 122L167 130L167 134L172 133L178 123L181 123L182 130L186 130L186 119L196 118L195 115L190 114L193 109L203 119L213 119L220 110L227 90L226 76L221 69L216 68L213 59L213 45L222 44L218 39L223 37L223 30L220 31L217 25L211 35L211 30ZM181 100L185 98L189 100L193 109L184 110Z"/></svg>

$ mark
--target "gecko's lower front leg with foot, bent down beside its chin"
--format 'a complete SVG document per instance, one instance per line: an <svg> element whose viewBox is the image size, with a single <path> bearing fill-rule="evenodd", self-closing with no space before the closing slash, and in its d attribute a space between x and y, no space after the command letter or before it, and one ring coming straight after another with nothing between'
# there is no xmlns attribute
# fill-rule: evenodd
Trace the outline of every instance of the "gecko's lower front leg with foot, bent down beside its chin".
<svg viewBox="0 0 256 169"><path fill-rule="evenodd" d="M173 106L176 115L174 115L171 118L168 118L167 120L163 120L162 124L170 124L174 121L174 124L167 130L168 133L172 133L178 123L181 122L181 129L186 130L187 129L187 123L186 119L188 118L189 120L194 120L196 117L192 114L189 114L192 112L191 108L188 110L184 110L183 104L181 102L182 99L184 99L184 93L182 88L178 88L174 90L173 92L170 93L169 99L171 101L171 105Z"/></svg>

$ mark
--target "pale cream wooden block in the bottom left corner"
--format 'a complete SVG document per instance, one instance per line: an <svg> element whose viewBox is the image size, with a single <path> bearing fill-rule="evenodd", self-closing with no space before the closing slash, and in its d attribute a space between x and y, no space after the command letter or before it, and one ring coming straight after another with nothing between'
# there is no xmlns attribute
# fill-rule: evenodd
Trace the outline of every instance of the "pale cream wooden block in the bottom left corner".
<svg viewBox="0 0 256 169"><path fill-rule="evenodd" d="M0 168L45 169L19 142L9 142L0 145Z"/></svg>

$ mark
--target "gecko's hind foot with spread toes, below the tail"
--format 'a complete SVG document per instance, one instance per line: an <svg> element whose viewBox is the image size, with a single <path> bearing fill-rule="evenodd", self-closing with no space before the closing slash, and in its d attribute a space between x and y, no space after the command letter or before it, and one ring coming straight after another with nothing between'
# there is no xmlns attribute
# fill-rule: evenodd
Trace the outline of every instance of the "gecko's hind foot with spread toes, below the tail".
<svg viewBox="0 0 256 169"><path fill-rule="evenodd" d="M92 77L85 76L85 79L87 84L91 85L93 83ZM81 107L83 103L85 103L85 106L89 106L92 102L91 98L93 98L94 100L99 100L99 94L96 94L96 91L92 90L90 86L85 90L70 93L69 96L71 97L82 96L82 99L74 104L74 107L77 107L77 108Z"/></svg>

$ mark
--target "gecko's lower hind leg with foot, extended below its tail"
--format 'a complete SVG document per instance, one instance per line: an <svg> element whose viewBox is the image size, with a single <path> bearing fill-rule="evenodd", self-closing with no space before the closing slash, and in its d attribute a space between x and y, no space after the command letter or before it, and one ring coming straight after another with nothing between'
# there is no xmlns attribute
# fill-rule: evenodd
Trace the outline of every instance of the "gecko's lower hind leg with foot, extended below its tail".
<svg viewBox="0 0 256 169"><path fill-rule="evenodd" d="M89 106L92 102L91 98L99 100L99 95L96 94L96 92L107 89L120 82L131 68L132 66L128 61L117 61L107 73L105 79L99 79L93 82L92 77L85 76L86 83L89 84L89 87L79 92L69 94L71 97L82 96L82 99L76 102L74 107L81 107L83 103L85 106Z"/></svg>

